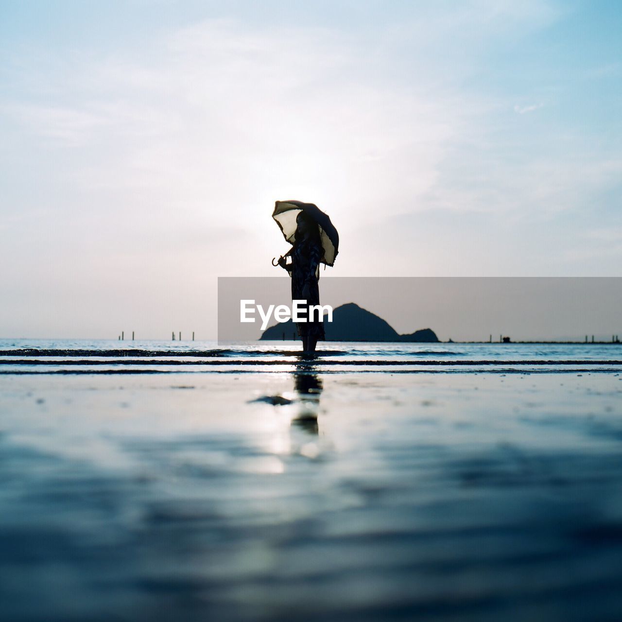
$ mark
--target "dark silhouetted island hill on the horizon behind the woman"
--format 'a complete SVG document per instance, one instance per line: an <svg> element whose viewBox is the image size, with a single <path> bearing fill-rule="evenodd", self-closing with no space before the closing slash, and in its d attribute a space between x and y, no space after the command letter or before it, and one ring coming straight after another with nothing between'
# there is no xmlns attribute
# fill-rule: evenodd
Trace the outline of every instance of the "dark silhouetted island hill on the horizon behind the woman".
<svg viewBox="0 0 622 622"><path fill-rule="evenodd" d="M409 341L423 343L437 343L439 341L434 330L430 328L399 335L383 318L362 309L354 302L348 302L348 304L333 309L333 321L324 323L324 332L327 341ZM292 320L279 322L266 328L260 339L281 341L283 335L287 340L290 340L293 335L296 335L297 338L296 326Z"/></svg>

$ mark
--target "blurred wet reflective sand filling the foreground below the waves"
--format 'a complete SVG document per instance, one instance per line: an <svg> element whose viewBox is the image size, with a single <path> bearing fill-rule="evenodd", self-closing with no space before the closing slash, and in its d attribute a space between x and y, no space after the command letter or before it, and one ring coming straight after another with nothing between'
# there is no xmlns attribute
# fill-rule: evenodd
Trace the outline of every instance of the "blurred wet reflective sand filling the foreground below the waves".
<svg viewBox="0 0 622 622"><path fill-rule="evenodd" d="M0 377L0 619L620 620L618 373Z"/></svg>

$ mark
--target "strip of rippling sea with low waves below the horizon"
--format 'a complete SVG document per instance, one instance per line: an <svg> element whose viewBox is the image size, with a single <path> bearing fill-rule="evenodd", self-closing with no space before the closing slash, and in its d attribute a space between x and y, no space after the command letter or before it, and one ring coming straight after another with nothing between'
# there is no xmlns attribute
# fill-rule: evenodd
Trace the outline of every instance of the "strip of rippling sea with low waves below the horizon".
<svg viewBox="0 0 622 622"><path fill-rule="evenodd" d="M618 373L621 343L369 343L321 341L0 340L0 373Z"/></svg>

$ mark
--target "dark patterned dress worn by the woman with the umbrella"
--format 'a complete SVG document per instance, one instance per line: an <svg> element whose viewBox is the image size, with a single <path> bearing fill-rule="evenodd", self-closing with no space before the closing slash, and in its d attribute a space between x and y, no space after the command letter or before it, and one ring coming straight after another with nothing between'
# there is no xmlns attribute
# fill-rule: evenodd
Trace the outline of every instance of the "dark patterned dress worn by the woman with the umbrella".
<svg viewBox="0 0 622 622"><path fill-rule="evenodd" d="M292 262L287 266L287 271L292 277L292 300L304 300L302 290L309 283L309 296L307 305L320 304L320 259L322 259L322 245L313 241L294 243L291 257ZM302 313L300 313L302 315ZM309 317L307 309L306 317ZM299 337L317 337L318 341L325 340L324 323L318 320L318 312L313 311L313 322L296 322L296 330Z"/></svg>

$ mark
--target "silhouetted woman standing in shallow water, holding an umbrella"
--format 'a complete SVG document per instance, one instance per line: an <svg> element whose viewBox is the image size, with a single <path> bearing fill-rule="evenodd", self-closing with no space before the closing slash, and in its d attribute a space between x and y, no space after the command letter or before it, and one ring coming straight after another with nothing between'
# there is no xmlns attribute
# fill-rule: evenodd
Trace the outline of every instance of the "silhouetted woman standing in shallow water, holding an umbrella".
<svg viewBox="0 0 622 622"><path fill-rule="evenodd" d="M320 230L315 220L304 211L297 216L296 225L294 246L290 251L292 262L286 264L285 258L281 257L279 266L285 268L292 277L292 300L307 300L307 305L319 305L318 267L324 253ZM318 312L313 312L312 317L313 322L296 323L298 336L302 337L302 350L307 354L314 353L318 340L325 339L324 323L318 320Z"/></svg>

